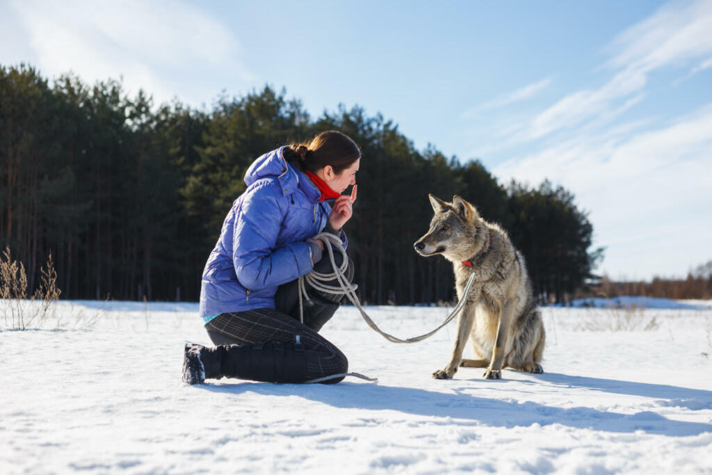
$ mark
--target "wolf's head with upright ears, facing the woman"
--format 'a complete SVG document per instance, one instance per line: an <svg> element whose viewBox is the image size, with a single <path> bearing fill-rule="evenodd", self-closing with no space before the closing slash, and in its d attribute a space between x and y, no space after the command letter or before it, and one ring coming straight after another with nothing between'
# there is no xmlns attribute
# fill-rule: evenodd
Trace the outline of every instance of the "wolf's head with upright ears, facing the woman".
<svg viewBox="0 0 712 475"><path fill-rule="evenodd" d="M421 256L442 254L449 261L466 261L485 245L487 226L477 209L455 195L451 203L429 194L435 215L430 229L414 244Z"/></svg>

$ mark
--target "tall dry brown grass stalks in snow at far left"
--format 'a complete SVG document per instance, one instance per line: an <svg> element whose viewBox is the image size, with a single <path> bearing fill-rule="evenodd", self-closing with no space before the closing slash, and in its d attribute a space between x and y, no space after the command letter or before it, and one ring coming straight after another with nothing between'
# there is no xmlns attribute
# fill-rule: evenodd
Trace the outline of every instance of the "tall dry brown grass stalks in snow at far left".
<svg viewBox="0 0 712 475"><path fill-rule="evenodd" d="M41 268L37 290L28 295L27 286L25 266L14 261L6 247L0 257L0 311L4 328L46 328L49 322L54 323L54 328L63 328L61 318L56 315L56 303L62 291L57 287L57 271L51 254ZM89 322L80 323L84 326Z"/></svg>

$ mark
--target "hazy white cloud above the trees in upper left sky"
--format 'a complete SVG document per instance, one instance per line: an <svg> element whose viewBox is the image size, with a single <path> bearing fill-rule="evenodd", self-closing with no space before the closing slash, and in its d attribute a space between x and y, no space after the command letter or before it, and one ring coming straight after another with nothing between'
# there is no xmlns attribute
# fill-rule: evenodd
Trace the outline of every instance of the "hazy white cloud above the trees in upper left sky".
<svg viewBox="0 0 712 475"><path fill-rule="evenodd" d="M29 61L44 75L73 71L85 82L123 77L132 93L144 88L157 102L178 95L197 103L221 87L209 78L246 85L239 44L218 20L181 2L128 0L10 4L29 39ZM203 85L204 98L192 96Z"/></svg>

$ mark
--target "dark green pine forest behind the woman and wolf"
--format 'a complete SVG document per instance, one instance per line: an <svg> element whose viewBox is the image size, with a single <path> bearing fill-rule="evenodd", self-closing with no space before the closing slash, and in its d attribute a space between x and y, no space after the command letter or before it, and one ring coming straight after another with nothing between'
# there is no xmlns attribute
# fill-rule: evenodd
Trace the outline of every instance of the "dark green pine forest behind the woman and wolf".
<svg viewBox="0 0 712 475"><path fill-rule="evenodd" d="M205 108L204 108L205 109ZM50 83L0 66L0 236L30 286L51 253L63 298L197 301L201 271L244 173L264 152L336 129L362 150L345 231L362 301L451 301L451 264L417 256L428 193L459 194L510 233L537 296L563 301L592 278L602 249L573 195L543 182L500 184L479 160L417 150L380 114L339 105L312 118L270 86L209 110L155 106L117 80Z"/></svg>

